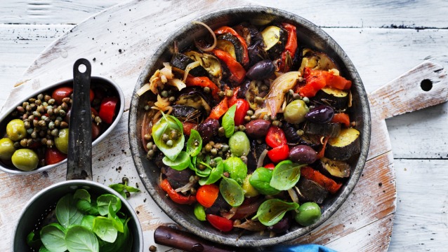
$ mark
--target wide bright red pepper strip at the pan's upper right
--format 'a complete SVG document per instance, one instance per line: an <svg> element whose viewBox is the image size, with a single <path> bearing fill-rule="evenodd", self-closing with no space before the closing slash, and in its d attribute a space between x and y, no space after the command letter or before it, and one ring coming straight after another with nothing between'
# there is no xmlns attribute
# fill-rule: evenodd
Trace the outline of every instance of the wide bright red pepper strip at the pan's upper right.
<svg viewBox="0 0 448 252"><path fill-rule="evenodd" d="M322 87L334 87L340 90L349 90L352 82L341 76L335 76L329 71L312 70L305 67L303 71L303 78L305 78L305 85L299 88L299 94L303 97L314 97L317 91Z"/></svg>

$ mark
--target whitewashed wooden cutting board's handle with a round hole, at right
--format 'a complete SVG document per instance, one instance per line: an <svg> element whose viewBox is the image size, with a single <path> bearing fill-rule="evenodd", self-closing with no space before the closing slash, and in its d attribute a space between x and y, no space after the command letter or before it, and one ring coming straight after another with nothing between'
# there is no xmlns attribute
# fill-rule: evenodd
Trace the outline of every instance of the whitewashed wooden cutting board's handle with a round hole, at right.
<svg viewBox="0 0 448 252"><path fill-rule="evenodd" d="M447 102L444 67L425 61L369 94L372 113L382 119Z"/></svg>

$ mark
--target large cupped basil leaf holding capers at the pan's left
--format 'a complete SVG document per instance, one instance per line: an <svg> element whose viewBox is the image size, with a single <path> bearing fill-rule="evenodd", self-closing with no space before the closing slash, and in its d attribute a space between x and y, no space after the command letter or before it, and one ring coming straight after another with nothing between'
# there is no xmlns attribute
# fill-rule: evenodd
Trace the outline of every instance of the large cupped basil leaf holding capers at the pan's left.
<svg viewBox="0 0 448 252"><path fill-rule="evenodd" d="M162 140L162 136L164 134L170 134L171 130L178 131L179 137L178 139L171 139L171 141L173 141L173 146L168 146L166 145L166 142ZM152 139L154 139L157 148L159 148L166 157L170 160L176 160L185 143L183 125L176 117L162 113L162 118L152 126Z"/></svg>

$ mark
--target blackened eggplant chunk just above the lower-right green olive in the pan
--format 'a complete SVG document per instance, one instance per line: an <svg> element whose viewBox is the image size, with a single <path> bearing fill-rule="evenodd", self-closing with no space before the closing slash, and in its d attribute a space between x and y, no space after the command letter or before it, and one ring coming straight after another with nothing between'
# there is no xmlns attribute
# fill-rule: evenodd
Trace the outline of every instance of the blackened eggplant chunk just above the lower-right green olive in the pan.
<svg viewBox="0 0 448 252"><path fill-rule="evenodd" d="M322 204L327 198L328 191L315 181L301 177L296 185L298 198L301 202L316 202Z"/></svg>

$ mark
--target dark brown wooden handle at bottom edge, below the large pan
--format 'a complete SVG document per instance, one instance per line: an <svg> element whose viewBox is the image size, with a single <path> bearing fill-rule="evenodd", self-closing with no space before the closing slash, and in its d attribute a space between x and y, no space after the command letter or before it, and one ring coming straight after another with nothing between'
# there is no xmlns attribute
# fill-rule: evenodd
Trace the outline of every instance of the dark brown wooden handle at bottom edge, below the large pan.
<svg viewBox="0 0 448 252"><path fill-rule="evenodd" d="M183 251L192 251L192 252L242 251L237 248L231 248L229 246L213 244L213 242L211 241L206 241L205 239L196 237L195 235L191 235L190 233L162 225L156 228L154 232L154 241L157 244L182 249Z"/></svg>

